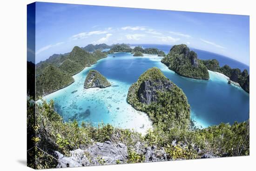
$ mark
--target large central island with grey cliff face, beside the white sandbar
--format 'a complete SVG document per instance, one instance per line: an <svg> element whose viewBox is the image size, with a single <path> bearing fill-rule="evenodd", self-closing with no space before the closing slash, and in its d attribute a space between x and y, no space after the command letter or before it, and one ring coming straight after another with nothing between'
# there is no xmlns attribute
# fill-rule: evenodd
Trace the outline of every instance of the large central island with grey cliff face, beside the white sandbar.
<svg viewBox="0 0 256 171"><path fill-rule="evenodd" d="M151 101L144 100L145 97ZM130 86L127 101L135 109L146 112L154 125L165 132L172 127L183 129L189 125L190 105L186 95L156 67L141 74Z"/></svg>

